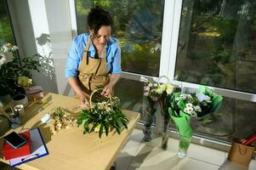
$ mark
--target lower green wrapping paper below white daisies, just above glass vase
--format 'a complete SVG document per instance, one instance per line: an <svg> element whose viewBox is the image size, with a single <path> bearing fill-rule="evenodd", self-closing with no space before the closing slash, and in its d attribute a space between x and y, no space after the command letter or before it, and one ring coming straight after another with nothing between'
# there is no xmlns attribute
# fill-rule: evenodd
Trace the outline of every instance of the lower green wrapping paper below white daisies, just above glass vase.
<svg viewBox="0 0 256 170"><path fill-rule="evenodd" d="M169 115L174 120L174 123L179 131L180 135L185 136L186 138L191 138L193 135L193 130L191 127L191 116L186 115L183 111L179 111L179 116L173 109L168 109Z"/></svg>

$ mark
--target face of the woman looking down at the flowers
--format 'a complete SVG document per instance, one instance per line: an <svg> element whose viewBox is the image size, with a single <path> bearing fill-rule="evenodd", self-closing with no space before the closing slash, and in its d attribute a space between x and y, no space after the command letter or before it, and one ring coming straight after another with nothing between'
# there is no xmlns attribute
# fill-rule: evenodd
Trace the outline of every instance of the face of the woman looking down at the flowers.
<svg viewBox="0 0 256 170"><path fill-rule="evenodd" d="M106 42L111 37L111 26L101 26L97 33L94 30L89 30L90 34L93 35L94 45L105 46Z"/></svg>

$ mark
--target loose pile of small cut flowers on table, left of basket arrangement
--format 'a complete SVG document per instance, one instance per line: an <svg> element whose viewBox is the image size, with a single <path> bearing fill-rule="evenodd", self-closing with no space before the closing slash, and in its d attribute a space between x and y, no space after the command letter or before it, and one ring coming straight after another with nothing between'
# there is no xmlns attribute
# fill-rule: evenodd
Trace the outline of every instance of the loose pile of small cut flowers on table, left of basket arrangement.
<svg viewBox="0 0 256 170"><path fill-rule="evenodd" d="M54 120L54 127L51 129L52 133L58 133L63 128L77 127L77 119L61 107L54 108L50 112L51 118Z"/></svg>

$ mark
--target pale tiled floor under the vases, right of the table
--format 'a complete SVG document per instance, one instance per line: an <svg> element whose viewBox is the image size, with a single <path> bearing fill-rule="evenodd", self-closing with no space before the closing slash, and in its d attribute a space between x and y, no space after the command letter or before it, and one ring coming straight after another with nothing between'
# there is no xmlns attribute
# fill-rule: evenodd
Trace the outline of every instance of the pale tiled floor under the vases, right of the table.
<svg viewBox="0 0 256 170"><path fill-rule="evenodd" d="M135 129L116 161L117 170L255 170L256 160L249 167L226 161L227 153L198 144L191 144L188 157L177 156L178 140L168 140L168 150L161 150L161 138L142 142L144 134Z"/></svg>

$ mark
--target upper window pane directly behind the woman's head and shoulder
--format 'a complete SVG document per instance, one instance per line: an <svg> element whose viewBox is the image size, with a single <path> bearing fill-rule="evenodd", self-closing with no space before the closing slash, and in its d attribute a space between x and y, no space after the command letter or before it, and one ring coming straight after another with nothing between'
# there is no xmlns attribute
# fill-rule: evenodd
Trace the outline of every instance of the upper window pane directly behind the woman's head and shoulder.
<svg viewBox="0 0 256 170"><path fill-rule="evenodd" d="M164 0L77 0L78 34L88 32L89 8L99 5L114 20L112 37L122 49L122 71L158 76L162 42Z"/></svg>

